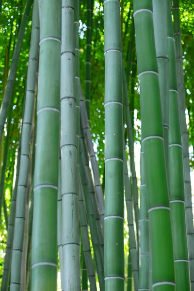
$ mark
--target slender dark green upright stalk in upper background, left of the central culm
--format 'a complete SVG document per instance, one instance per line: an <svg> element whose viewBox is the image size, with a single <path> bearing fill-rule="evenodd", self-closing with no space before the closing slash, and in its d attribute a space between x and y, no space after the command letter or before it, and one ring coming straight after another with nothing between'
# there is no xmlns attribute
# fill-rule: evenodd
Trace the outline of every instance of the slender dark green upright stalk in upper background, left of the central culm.
<svg viewBox="0 0 194 291"><path fill-rule="evenodd" d="M92 42L92 13L93 0L87 0L87 31L86 31L86 62L85 62L85 106L90 119L90 93L91 93L91 42Z"/></svg>

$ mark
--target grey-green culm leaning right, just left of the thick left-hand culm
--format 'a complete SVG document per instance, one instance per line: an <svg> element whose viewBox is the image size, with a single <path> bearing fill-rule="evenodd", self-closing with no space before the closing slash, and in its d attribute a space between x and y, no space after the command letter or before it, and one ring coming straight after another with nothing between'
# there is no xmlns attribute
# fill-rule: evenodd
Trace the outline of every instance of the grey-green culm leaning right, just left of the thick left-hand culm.
<svg viewBox="0 0 194 291"><path fill-rule="evenodd" d="M27 185L30 171L30 156L32 147L31 131L34 110L35 85L37 80L36 71L38 59L38 46L39 46L39 16L38 16L38 2L37 0L35 0L32 14L31 49L27 74L24 117L21 132L21 158L17 185L16 220L11 263L10 291L20 290L22 250L26 216L25 205L27 201L26 200Z"/></svg>

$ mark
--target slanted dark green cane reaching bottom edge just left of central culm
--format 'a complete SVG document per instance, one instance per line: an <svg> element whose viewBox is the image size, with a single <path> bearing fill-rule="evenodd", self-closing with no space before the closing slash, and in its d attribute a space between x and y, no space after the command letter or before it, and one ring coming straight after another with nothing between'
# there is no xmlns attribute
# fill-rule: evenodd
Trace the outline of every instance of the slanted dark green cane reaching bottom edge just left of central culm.
<svg viewBox="0 0 194 291"><path fill-rule="evenodd" d="M80 151L80 165L81 165L81 171L80 171L81 185L83 189L83 197L85 201L88 223L89 223L90 231L91 231L92 245L94 249L98 281L99 281L100 291L104 291L104 266L103 266L100 244L99 244L98 235L97 235L97 225L95 221L94 208L93 208L92 198L89 191L89 183L87 180L87 175L86 175L86 170L85 170L85 165L84 165L82 144L81 144L81 151Z"/></svg>

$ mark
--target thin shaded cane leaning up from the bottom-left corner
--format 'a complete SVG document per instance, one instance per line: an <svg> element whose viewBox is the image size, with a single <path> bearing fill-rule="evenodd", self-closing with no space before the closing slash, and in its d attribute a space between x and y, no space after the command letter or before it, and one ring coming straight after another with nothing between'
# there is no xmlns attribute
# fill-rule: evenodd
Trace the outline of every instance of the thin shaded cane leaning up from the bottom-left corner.
<svg viewBox="0 0 194 291"><path fill-rule="evenodd" d="M20 138L21 139L21 138ZM11 199L11 209L9 216L9 225L7 233L7 244L5 250L5 259L3 265L3 275L1 281L0 291L8 291L8 284L10 278L10 268L11 268L11 259L12 259L12 246L14 240L14 226L15 226L15 217L16 217L16 195L17 195L17 183L19 177L19 164L20 164L20 142L16 155L15 171L16 171L16 181L13 189L12 199Z"/></svg>

